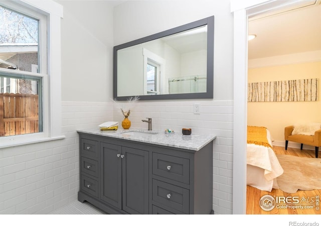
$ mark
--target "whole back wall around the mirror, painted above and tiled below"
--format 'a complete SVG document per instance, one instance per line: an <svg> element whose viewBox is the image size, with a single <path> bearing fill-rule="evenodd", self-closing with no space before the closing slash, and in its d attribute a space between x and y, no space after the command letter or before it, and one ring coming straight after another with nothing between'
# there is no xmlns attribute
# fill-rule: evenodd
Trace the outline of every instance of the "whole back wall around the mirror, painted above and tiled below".
<svg viewBox="0 0 321 226"><path fill-rule="evenodd" d="M129 119L132 127L147 128L141 120L153 119L153 129L183 127L192 133L214 133L213 209L232 213L233 164L233 16L229 1L127 1L114 9L114 44L119 45L206 17L215 16L214 99L139 101ZM199 103L201 114L193 114ZM115 109L114 120L122 121Z"/></svg>

